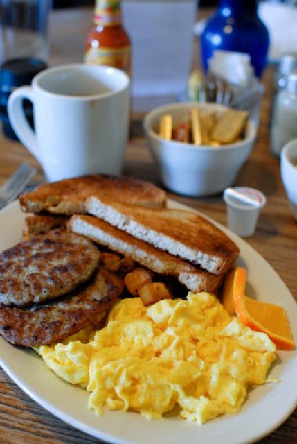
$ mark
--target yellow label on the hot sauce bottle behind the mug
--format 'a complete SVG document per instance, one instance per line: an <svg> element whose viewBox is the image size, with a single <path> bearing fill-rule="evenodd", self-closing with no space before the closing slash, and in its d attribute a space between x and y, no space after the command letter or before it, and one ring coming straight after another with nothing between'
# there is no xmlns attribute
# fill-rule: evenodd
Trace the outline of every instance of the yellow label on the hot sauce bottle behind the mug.
<svg viewBox="0 0 297 444"><path fill-rule="evenodd" d="M131 76L131 48L90 48L84 56L87 65L108 65L125 71Z"/></svg>

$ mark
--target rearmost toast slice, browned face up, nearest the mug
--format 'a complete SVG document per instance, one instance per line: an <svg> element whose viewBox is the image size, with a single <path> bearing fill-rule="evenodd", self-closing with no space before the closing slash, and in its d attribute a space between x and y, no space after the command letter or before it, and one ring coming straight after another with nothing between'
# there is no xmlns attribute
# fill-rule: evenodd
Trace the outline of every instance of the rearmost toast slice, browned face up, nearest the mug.
<svg viewBox="0 0 297 444"><path fill-rule="evenodd" d="M154 208L166 206L166 193L156 185L104 174L39 185L35 190L21 194L19 203L23 212L85 214L85 201L89 196Z"/></svg>

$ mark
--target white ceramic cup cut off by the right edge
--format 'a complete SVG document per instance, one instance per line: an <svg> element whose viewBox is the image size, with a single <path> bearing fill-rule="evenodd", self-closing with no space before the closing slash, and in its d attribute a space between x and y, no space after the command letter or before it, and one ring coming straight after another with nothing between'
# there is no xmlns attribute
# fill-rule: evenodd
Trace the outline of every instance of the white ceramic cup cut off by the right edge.
<svg viewBox="0 0 297 444"><path fill-rule="evenodd" d="M293 139L280 152L280 176L284 184L289 207L297 221L297 139Z"/></svg>

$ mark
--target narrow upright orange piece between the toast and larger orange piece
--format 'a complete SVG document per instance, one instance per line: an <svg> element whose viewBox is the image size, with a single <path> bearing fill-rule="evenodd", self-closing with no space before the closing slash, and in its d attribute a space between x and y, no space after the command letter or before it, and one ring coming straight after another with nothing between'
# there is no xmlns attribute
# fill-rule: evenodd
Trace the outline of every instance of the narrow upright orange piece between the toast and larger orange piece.
<svg viewBox="0 0 297 444"><path fill-rule="evenodd" d="M228 273L224 281L222 291L222 305L230 316L235 314L234 300L238 296L243 296L246 287L247 273L246 269L240 266L233 268Z"/></svg>

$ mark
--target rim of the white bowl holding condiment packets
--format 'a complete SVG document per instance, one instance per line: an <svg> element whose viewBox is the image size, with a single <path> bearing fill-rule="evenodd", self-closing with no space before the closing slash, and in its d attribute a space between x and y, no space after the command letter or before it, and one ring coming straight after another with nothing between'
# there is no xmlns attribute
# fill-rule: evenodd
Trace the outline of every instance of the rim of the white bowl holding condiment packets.
<svg viewBox="0 0 297 444"><path fill-rule="evenodd" d="M168 103L166 105L158 106L158 107L154 108L153 110L151 110L150 112L148 112L143 119L143 128L154 139L159 140L159 141L164 141L163 137L160 137L154 130L152 130L152 128L149 127L148 121L150 119L152 119L152 117L154 117L154 114L159 114L159 112L161 112L162 110L167 110L167 112L170 112L170 108L177 109L177 108L183 108L185 106L186 106L186 108L191 108L193 106L196 108L214 108L217 111L219 111L219 110L226 111L230 108L226 105L220 105L219 103L214 103L214 102L194 102L194 101L172 102L172 103ZM188 149L188 150L205 151L205 150L209 150L209 149L213 148L215 150L228 151L228 150L233 150L234 148L237 148L242 143L253 142L253 139L255 139L255 137L256 137L256 130L255 130L255 125L253 124L253 122L251 120L248 121L247 128L249 130L249 135L245 139L243 139L242 141L234 142L233 144L224 144L224 145L222 144L220 146L212 147L209 145L186 144L185 142L179 142L177 140L168 140L168 142L173 144L173 146L183 144L183 148Z"/></svg>

